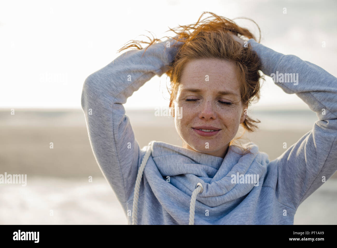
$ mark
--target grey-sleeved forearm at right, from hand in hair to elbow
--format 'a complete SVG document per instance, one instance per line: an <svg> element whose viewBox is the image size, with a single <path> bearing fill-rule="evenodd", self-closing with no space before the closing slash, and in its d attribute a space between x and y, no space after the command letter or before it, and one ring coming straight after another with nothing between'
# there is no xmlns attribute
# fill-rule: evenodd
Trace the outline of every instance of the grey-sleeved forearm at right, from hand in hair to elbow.
<svg viewBox="0 0 337 248"><path fill-rule="evenodd" d="M285 93L296 93L319 120L337 118L337 79L323 68L295 55L284 55L249 39L262 62L262 71L272 76Z"/></svg>

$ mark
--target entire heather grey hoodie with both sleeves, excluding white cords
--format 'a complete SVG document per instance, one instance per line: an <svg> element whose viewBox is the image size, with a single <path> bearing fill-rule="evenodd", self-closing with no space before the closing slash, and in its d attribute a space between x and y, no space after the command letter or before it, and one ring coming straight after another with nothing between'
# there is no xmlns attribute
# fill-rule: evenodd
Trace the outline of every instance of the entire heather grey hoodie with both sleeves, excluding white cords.
<svg viewBox="0 0 337 248"><path fill-rule="evenodd" d="M145 49L125 52L90 74L83 85L82 108L93 153L128 224L137 171L151 143L139 147L122 104L154 75L166 72L181 44L169 42L169 48L163 41L145 53ZM274 82L317 114L312 130L273 161L253 143L246 144L253 154L238 155L235 151L240 150L230 146L222 159L154 142L140 185L138 224L188 224L191 194L198 182L204 190L196 196L196 225L293 224L298 206L336 172L336 77L253 39L248 43L261 58L266 75L298 73L298 82ZM258 182L233 183L237 173L259 175Z"/></svg>

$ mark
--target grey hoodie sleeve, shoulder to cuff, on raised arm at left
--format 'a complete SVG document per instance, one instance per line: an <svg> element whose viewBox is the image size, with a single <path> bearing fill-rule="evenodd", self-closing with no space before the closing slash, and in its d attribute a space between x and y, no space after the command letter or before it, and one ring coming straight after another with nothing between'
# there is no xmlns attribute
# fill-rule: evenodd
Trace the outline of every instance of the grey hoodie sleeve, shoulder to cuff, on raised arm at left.
<svg viewBox="0 0 337 248"><path fill-rule="evenodd" d="M154 75L160 77L168 70L182 44L175 42L169 39L148 46L146 51L127 51L90 74L83 85L81 104L91 148L124 210L142 158L123 104Z"/></svg>

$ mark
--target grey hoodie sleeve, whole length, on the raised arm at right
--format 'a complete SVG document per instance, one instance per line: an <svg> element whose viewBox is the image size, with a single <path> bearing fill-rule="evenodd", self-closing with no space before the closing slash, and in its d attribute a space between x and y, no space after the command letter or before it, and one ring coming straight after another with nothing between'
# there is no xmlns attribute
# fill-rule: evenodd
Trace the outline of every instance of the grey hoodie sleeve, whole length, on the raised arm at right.
<svg viewBox="0 0 337 248"><path fill-rule="evenodd" d="M296 210L337 170L337 79L297 56L277 53L254 39L248 43L261 59L263 73L274 76L277 86L287 94L295 93L318 117L312 130L271 161L277 165L279 202Z"/></svg>

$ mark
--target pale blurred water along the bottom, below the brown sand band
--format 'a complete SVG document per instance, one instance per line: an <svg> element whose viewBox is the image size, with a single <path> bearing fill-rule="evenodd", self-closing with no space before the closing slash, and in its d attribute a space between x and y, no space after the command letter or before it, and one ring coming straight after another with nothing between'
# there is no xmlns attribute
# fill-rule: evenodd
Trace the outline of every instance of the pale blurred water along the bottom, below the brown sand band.
<svg viewBox="0 0 337 248"><path fill-rule="evenodd" d="M294 224L337 224L337 180L329 179L298 208ZM30 178L0 185L0 224L127 224L104 178ZM51 215L52 213L52 215Z"/></svg>

